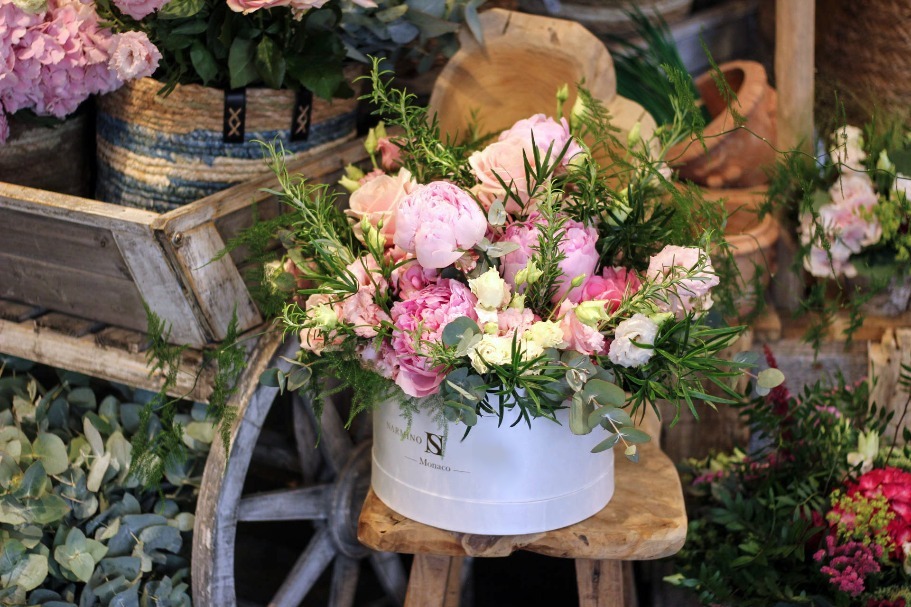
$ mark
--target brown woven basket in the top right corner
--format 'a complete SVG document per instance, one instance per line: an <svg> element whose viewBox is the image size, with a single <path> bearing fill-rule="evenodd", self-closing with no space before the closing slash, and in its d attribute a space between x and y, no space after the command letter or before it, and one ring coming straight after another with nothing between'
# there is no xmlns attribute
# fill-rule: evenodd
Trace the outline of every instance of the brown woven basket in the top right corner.
<svg viewBox="0 0 911 607"><path fill-rule="evenodd" d="M850 123L869 120L876 108L911 116L911 1L822 2L816 39L817 103L832 114L835 94Z"/></svg>

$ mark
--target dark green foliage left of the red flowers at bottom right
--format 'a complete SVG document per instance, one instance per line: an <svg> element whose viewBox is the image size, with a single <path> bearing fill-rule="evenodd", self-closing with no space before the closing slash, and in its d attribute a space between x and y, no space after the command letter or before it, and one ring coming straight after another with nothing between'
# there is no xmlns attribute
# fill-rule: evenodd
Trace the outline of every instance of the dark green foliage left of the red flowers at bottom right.
<svg viewBox="0 0 911 607"><path fill-rule="evenodd" d="M865 605L866 598L836 596L813 553L830 496L855 471L848 454L860 432L882 434L890 419L868 397L866 383L840 381L809 386L800 398L773 394L742 405L758 439L750 453L735 449L681 467L690 525L675 557L678 573L666 581L694 591L705 605ZM878 457L876 465L895 461ZM862 504L851 508L883 522Z"/></svg>

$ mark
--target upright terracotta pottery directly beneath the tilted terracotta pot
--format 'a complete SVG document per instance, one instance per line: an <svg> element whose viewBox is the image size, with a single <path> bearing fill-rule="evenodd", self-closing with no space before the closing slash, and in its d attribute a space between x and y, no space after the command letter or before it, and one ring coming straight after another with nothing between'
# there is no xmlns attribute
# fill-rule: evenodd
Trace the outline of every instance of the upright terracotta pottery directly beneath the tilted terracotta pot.
<svg viewBox="0 0 911 607"><path fill-rule="evenodd" d="M725 238L740 271L740 295L735 299L743 317L755 310L776 271L776 244L780 228L771 215L759 219L758 209L766 187L703 190L706 200L723 200L728 213Z"/></svg>

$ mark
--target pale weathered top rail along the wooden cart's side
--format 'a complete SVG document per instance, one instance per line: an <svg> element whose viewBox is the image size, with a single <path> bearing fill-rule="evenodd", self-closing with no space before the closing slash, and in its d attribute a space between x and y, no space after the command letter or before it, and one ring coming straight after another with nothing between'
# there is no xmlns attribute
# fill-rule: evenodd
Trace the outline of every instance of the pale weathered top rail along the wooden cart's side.
<svg viewBox="0 0 911 607"><path fill-rule="evenodd" d="M2 182L0 208L122 231L151 225L158 218L151 211Z"/></svg>

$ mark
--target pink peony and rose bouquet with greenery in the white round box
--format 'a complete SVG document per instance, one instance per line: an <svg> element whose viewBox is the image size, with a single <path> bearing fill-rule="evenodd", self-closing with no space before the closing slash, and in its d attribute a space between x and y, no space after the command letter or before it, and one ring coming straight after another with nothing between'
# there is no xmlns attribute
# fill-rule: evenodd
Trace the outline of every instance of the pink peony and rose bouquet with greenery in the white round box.
<svg viewBox="0 0 911 607"><path fill-rule="evenodd" d="M331 373L353 388L352 415L395 396L469 428L568 407L572 432L607 431L595 451L622 443L632 459L648 440L631 415L641 405L695 413L736 396L744 365L719 353L742 327L708 315L723 216L661 162L681 125L654 141L637 125L621 142L582 88L563 115L564 88L556 118L444 142L381 76L374 65L371 100L400 131L367 138L374 167L348 168L347 210L273 155L276 193L295 209L274 281L290 284L282 321L301 340L281 382Z"/></svg>

